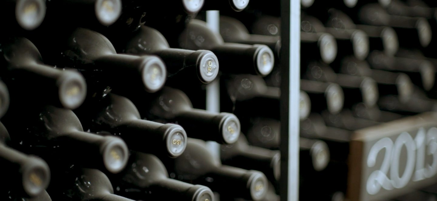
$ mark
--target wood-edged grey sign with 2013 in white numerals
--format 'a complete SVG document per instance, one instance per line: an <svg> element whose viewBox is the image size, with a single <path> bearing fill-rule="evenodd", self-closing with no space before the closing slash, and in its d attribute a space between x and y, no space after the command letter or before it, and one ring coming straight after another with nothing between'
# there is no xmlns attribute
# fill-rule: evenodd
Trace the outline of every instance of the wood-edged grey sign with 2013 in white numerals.
<svg viewBox="0 0 437 201"><path fill-rule="evenodd" d="M380 201L437 182L437 113L423 113L354 132L347 197Z"/></svg>

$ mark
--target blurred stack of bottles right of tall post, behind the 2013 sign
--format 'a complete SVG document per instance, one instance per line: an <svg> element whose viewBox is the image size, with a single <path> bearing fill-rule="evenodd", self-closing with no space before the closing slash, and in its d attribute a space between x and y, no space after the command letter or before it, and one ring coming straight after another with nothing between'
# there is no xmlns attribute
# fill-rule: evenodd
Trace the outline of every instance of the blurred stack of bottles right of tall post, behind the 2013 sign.
<svg viewBox="0 0 437 201"><path fill-rule="evenodd" d="M314 155L322 168L300 169L300 200L346 199L354 131L435 111L434 8L406 5L413 2L420 0L315 0L302 7L301 89L324 96L309 96L312 113L301 119L300 136L323 141L329 155ZM392 200L412 198L436 197L428 189Z"/></svg>

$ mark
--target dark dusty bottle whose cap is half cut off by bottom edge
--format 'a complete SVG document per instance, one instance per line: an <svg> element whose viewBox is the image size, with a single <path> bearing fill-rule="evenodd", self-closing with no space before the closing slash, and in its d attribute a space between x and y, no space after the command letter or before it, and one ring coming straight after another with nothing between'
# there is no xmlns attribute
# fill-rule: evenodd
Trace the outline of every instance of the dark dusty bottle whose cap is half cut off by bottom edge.
<svg viewBox="0 0 437 201"><path fill-rule="evenodd" d="M111 180L117 194L134 200L214 200L210 188L169 178L160 159L146 153L133 152L125 171Z"/></svg>

